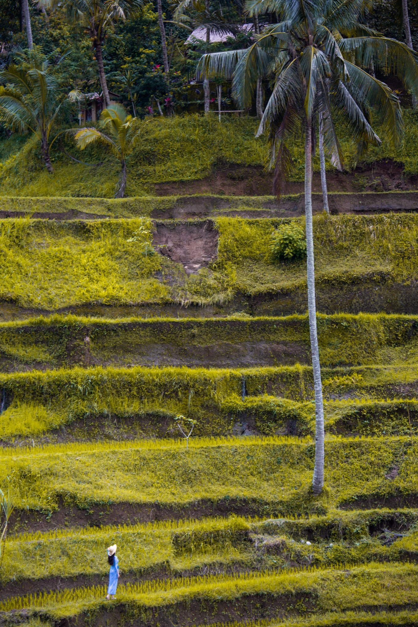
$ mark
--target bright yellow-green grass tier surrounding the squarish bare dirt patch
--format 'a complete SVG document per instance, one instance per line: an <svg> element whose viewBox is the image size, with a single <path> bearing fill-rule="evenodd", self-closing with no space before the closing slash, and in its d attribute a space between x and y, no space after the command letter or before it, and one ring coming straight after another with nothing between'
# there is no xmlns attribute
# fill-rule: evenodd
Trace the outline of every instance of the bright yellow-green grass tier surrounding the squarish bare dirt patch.
<svg viewBox="0 0 418 627"><path fill-rule="evenodd" d="M280 222L217 218L219 259L187 277L181 264L145 255L149 233L127 241L140 226L149 228L146 218L3 220L0 298L56 310L83 303L222 304L238 293L304 292L305 261L269 259L271 233ZM187 223L182 228L187 232ZM417 277L417 214L316 216L314 235L318 289L345 285L350 290L361 283L384 287L395 298L397 286L407 288Z"/></svg>

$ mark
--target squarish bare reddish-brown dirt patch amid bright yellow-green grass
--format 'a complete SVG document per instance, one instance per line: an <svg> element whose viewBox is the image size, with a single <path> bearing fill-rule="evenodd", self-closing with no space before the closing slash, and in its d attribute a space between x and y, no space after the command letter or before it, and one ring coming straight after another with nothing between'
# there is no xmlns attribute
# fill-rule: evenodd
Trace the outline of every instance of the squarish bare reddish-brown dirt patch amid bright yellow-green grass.
<svg viewBox="0 0 418 627"><path fill-rule="evenodd" d="M187 274L207 266L217 255L218 232L211 220L157 222L154 245L162 255L182 263Z"/></svg>

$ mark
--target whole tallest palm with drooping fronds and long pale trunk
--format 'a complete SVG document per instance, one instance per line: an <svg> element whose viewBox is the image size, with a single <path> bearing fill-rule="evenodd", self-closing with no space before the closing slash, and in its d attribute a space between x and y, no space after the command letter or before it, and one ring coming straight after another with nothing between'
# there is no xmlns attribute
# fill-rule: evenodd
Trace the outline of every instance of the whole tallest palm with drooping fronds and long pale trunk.
<svg viewBox="0 0 418 627"><path fill-rule="evenodd" d="M380 139L370 125L373 113L387 139L399 142L403 131L399 98L385 83L371 76L374 65L382 73L402 76L418 95L418 58L399 41L385 38L360 24L365 0L248 0L249 15L276 13L281 22L265 28L246 50L204 55L205 76L233 76L233 90L242 108L251 103L259 76L274 76L274 88L264 110L258 135L269 130L274 187L291 169L288 141L305 134L305 214L308 313L315 387L316 433L313 491L323 487L324 425L320 357L316 332L315 268L312 227L312 152L318 117L323 145L338 169L343 154L334 125L335 113L357 144L361 156L368 144Z"/></svg>

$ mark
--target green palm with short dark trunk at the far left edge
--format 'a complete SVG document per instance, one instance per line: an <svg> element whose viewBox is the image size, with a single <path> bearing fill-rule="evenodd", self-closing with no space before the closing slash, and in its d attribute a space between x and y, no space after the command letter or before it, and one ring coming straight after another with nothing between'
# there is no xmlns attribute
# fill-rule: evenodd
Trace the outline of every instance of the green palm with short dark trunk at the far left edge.
<svg viewBox="0 0 418 627"><path fill-rule="evenodd" d="M0 112L6 124L21 132L31 130L41 142L43 159L50 174L53 172L50 148L59 134L55 132L62 107L76 99L77 93L61 95L55 78L56 69L63 59L50 65L37 50L15 53L19 65L12 63L0 71Z"/></svg>

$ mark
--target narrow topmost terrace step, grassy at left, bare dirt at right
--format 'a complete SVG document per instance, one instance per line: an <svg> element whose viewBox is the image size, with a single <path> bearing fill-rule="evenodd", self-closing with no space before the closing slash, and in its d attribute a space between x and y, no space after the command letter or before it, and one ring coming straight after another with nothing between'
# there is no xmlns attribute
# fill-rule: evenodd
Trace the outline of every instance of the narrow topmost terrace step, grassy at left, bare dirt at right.
<svg viewBox="0 0 418 627"><path fill-rule="evenodd" d="M417 211L417 191L360 192L329 194L332 213L380 213ZM304 211L303 194L283 196L140 196L136 198L0 198L0 218L30 213L33 218L98 219L107 217L187 218L219 212L242 217L285 217ZM243 210L243 208L245 208ZM313 194L314 211L322 211L322 194Z"/></svg>

